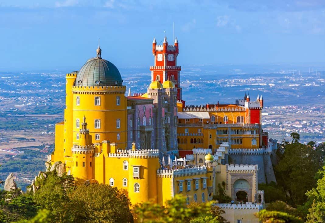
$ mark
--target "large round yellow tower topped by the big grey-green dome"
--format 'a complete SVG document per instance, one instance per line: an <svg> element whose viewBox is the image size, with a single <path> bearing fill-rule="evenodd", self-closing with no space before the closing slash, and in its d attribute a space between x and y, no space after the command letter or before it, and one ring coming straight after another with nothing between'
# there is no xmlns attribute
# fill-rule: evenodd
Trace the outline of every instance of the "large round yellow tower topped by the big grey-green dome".
<svg viewBox="0 0 325 223"><path fill-rule="evenodd" d="M79 144L80 120L85 115L93 143L110 140L117 148L126 148L126 87L122 82L118 69L101 58L98 47L97 57L85 63L72 86L73 144Z"/></svg>

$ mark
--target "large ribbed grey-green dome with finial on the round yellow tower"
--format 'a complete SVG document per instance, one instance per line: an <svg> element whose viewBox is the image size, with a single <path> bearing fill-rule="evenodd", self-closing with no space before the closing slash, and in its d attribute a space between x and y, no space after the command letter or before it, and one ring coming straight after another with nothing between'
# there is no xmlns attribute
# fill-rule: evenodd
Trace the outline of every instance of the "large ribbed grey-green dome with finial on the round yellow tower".
<svg viewBox="0 0 325 223"><path fill-rule="evenodd" d="M75 86L122 86L119 70L110 61L101 58L101 50L98 52L97 57L90 58L80 68Z"/></svg>

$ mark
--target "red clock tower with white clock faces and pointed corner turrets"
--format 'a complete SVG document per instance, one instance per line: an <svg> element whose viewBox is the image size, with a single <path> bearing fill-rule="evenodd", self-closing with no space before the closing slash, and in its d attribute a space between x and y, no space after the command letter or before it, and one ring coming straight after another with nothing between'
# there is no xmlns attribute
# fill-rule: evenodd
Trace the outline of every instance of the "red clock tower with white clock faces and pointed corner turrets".
<svg viewBox="0 0 325 223"><path fill-rule="evenodd" d="M152 42L152 54L155 57L155 65L150 66L151 82L170 80L177 88L177 99L182 100L182 88L179 83L179 72L181 67L177 66L178 41L175 39L174 45L168 45L165 37L162 45L157 45L156 38Z"/></svg>

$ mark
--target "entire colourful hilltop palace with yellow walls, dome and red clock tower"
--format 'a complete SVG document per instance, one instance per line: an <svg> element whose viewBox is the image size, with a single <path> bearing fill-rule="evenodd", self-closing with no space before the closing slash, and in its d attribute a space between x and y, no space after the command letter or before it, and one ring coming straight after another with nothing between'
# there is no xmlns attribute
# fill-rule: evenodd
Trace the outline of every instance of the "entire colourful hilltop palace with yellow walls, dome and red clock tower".
<svg viewBox="0 0 325 223"><path fill-rule="evenodd" d="M235 203L218 205L231 210L231 222L248 219L263 208L258 183L275 181L277 142L262 130L264 99L245 94L234 104L186 105L178 53L177 38L173 45L154 39L147 92L125 96L119 70L98 46L96 57L66 75L64 121L49 160L64 163L80 183L124 189L132 204L164 204L177 193L205 202L224 185Z"/></svg>

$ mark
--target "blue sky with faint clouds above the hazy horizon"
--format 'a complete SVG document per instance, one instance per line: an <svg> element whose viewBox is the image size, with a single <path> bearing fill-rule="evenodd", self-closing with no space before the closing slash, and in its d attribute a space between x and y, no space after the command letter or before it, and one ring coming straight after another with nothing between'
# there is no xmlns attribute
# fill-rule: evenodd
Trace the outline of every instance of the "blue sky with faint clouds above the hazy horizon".
<svg viewBox="0 0 325 223"><path fill-rule="evenodd" d="M0 0L0 71L79 69L98 37L118 68L148 67L173 21L183 67L325 61L320 0Z"/></svg>

